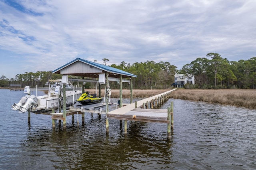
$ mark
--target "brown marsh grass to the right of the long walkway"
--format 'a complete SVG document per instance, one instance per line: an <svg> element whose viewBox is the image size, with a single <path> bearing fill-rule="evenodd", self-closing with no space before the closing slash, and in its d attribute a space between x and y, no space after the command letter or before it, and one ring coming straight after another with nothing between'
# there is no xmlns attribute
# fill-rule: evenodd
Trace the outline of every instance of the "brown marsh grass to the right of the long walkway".
<svg viewBox="0 0 256 170"><path fill-rule="evenodd" d="M221 105L232 105L236 107L256 109L256 90L249 89L178 89L171 93L171 97L174 99L203 101L209 103L219 103Z"/></svg>

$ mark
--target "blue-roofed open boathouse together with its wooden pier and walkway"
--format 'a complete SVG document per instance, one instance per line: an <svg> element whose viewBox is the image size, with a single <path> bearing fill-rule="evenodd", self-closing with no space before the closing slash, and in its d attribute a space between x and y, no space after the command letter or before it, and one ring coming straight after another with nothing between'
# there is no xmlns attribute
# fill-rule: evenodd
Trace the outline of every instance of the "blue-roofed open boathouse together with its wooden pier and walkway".
<svg viewBox="0 0 256 170"><path fill-rule="evenodd" d="M62 75L74 75L74 76L80 76L82 77L83 81L86 81L85 77L93 77L98 79L99 84L105 84L105 91L107 93L106 95L106 132L108 132L108 119L118 119L120 120L120 125L122 124L122 121L124 120L124 132L127 132L127 121L144 121L144 122L158 122L158 123L167 123L168 124L168 138L170 138L170 130L171 127L173 127L173 109L172 107L167 109L157 109L158 111L152 111L152 110L144 110L149 109L148 105L151 105L150 108L155 108L157 105L160 105L163 101L166 101L171 91L167 91L166 93L162 93L160 95L156 95L154 97L150 97L147 99L144 99L140 102L132 103L132 78L137 77L136 75L133 75L131 73L128 73L126 71L122 71L120 69L116 69L113 67L109 67L106 65L102 65L99 63L95 63L92 61L76 58L73 61L67 63L66 65L63 65L62 67L52 71L53 73L62 74ZM108 93L111 91L109 87L108 81L117 81L120 85L120 103L119 109L116 109L115 111L111 111L108 113L108 97L110 97L111 93ZM129 82L130 83L130 105L126 105L122 107L122 83L123 82ZM175 90L175 89L174 89ZM100 88L99 88L100 93ZM65 102L65 99L63 99L63 102ZM64 104L65 106L65 104ZM140 109L143 108L143 109ZM121 109L121 110L120 110ZM91 110L86 110L83 107L80 108L74 108L70 107L70 111L66 113L66 109L63 108L63 113L52 113L52 125L55 127L54 120L63 120L63 127L66 128L66 116L72 115L74 117L74 114L82 114L82 122L84 121L84 113L90 112ZM96 112L95 110L92 110L91 113L100 113L102 114L102 111ZM163 113L161 115L161 113ZM72 117L72 121L73 121ZM108 118L109 117L109 118Z"/></svg>

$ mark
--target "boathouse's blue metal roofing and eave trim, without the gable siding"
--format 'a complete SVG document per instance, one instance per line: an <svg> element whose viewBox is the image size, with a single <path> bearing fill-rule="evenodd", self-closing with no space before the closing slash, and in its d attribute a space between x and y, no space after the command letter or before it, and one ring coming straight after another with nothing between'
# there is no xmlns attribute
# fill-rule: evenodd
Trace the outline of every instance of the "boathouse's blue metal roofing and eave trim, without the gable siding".
<svg viewBox="0 0 256 170"><path fill-rule="evenodd" d="M61 69L67 67L68 65L71 65L72 63L75 63L76 61L81 61L83 63L86 63L88 65L92 65L92 66L94 66L94 67L96 67L98 69L102 69L102 70L107 71L107 72L112 72L112 73L116 73L116 74L119 74L119 75L126 75L128 77L137 77L137 75L128 73L126 71L122 71L122 70L114 68L114 67L110 67L110 66L107 66L107 65L95 63L95 62L88 61L88 60L81 59L81 58L76 58L73 61L70 61L69 63L63 65L62 67L52 71L52 73L56 73L56 72L60 71Z"/></svg>

